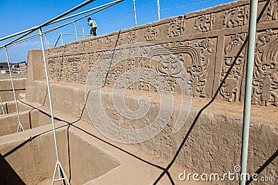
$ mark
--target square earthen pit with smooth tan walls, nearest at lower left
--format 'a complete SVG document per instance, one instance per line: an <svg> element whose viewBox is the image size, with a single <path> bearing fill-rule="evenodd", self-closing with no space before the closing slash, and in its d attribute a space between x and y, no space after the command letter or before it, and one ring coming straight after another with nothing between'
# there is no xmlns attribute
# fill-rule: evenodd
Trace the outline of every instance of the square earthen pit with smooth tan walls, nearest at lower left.
<svg viewBox="0 0 278 185"><path fill-rule="evenodd" d="M6 141L0 142L0 163L5 166L0 168L0 184L7 179L16 184L51 184L56 164L54 137L51 131L42 134L49 128L46 125L17 133L21 134L17 139L15 134L0 137L0 141ZM38 134L33 135L35 132ZM71 184L85 184L120 165L115 157L67 127L58 129L56 136L60 163Z"/></svg>

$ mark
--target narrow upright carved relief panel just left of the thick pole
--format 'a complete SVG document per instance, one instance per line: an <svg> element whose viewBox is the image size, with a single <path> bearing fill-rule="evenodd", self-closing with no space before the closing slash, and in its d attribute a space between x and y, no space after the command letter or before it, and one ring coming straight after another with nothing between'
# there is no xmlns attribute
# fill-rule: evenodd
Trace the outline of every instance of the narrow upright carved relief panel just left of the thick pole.
<svg viewBox="0 0 278 185"><path fill-rule="evenodd" d="M224 44L224 64L221 71L220 98L234 102L239 100L240 82L243 78L245 50L243 43L247 38L246 33L231 35Z"/></svg>

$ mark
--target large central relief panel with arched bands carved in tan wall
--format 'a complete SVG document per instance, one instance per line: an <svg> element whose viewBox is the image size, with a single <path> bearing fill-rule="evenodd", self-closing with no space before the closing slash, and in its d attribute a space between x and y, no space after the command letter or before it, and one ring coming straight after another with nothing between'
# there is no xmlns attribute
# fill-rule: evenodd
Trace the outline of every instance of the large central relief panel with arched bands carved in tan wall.
<svg viewBox="0 0 278 185"><path fill-rule="evenodd" d="M211 39L198 39L188 42L170 42L163 44L167 51L155 46L131 47L124 53L124 58L118 62L108 73L107 84L118 88L125 83L129 89L142 91L177 91L179 92L178 79L188 79L190 85L186 94L206 97L206 78L208 74L209 59L213 58L215 49ZM167 52L166 52L167 53ZM139 56L134 58L133 56ZM155 60L154 60L155 59ZM139 72L133 71L139 69ZM130 71L124 76L125 71ZM156 75L154 75L156 74ZM122 79L120 79L122 76ZM134 77L139 76L134 83ZM120 80L119 80L120 79ZM118 84L115 84L117 80Z"/></svg>

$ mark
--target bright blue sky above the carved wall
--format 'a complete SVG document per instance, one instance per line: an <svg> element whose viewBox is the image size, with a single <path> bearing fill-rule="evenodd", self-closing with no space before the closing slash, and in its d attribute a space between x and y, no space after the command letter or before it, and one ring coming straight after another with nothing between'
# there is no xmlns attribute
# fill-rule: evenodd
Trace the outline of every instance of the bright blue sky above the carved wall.
<svg viewBox="0 0 278 185"><path fill-rule="evenodd" d="M74 6L83 3L84 0L66 1L66 0L0 0L0 37L17 33L21 30L38 26L60 15L61 13L70 10ZM109 3L113 0L96 0L87 6L76 10L72 14L88 10L96 6L101 6L105 3ZM227 3L233 0L160 0L161 19L167 17L173 17L177 15L184 15L186 12L193 12L195 10L202 10L211 6L216 6L222 3ZM177 7L177 8L174 8ZM156 0L136 0L138 25L146 24L152 21L156 21ZM124 28L130 28L135 26L134 14L133 14L133 0L124 0L115 6L107 8L101 12L97 12L95 15L91 15L92 19L97 21L97 34L103 35L105 33L111 33L115 30ZM67 23L78 17L61 21L57 24L47 26L43 30L54 28L60 24ZM116 19L115 19L116 18ZM90 34L90 27L86 25L87 19L81 19L76 22L77 32L82 33L82 26L86 34ZM33 34L38 33L35 31ZM49 40L49 46L54 46L60 33L74 33L74 25L70 24L58 30L55 30L47 34ZM14 37L15 38L15 37ZM82 39L83 37L79 37ZM11 41L7 39L0 42L0 45L4 45ZM74 35L66 35L63 37L63 42L74 42L76 37ZM45 44L45 43L44 43ZM59 40L58 45L61 42ZM8 54L12 62L21 62L27 60L27 52L29 49L40 49L40 38L23 42L15 46L8 47ZM6 54L4 50L0 51L0 62L6 62Z"/></svg>

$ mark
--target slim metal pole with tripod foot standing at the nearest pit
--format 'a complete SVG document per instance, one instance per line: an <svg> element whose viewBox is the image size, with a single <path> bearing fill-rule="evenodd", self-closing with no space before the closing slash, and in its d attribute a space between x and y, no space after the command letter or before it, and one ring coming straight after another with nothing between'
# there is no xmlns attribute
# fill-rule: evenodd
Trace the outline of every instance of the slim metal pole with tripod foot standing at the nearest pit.
<svg viewBox="0 0 278 185"><path fill-rule="evenodd" d="M67 185L70 185L70 182L68 181L68 179L65 175L65 171L63 170L63 167L61 166L60 161L59 161L58 146L57 146L57 139L56 139L56 130L55 130L55 123L54 123L54 114L53 114L53 109L52 109L52 101L51 101L48 70L47 70L47 60L45 59L44 43L43 43L43 39L42 39L42 28L39 28L39 33L40 33L40 42L42 44L42 58L43 58L43 61L44 61L45 78L47 80L47 93L48 93L48 98L49 98L51 123L52 123L52 127L53 127L54 145L55 145L55 152L56 152L56 159L57 159L55 170L54 170L54 175L53 175L53 179L52 179L52 185L54 184L54 182L64 181L64 180L67 182ZM58 170L59 175L58 175L58 179L55 179L57 170Z"/></svg>

